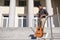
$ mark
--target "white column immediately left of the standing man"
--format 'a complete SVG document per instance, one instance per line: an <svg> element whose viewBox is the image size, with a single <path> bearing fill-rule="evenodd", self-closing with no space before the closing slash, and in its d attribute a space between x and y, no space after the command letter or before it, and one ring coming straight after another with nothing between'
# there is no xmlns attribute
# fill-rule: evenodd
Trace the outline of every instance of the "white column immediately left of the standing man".
<svg viewBox="0 0 60 40"><path fill-rule="evenodd" d="M34 27L34 0L28 0L28 27Z"/></svg>

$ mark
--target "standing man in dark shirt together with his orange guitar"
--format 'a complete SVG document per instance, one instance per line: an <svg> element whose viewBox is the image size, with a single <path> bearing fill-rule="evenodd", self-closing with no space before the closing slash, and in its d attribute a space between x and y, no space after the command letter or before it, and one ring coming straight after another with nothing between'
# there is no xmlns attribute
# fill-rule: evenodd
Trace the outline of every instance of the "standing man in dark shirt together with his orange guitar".
<svg viewBox="0 0 60 40"><path fill-rule="evenodd" d="M43 26L46 20L46 16L48 15L48 12L43 9L42 5L39 4L38 5L39 8L39 12L38 12L38 27L36 28L36 32L35 32L35 37L42 37L43 36Z"/></svg>

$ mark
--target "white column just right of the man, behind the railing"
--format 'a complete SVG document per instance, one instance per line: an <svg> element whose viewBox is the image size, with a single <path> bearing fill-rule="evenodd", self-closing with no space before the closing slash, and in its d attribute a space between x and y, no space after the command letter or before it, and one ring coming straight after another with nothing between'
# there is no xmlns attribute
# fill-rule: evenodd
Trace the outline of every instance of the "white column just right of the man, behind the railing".
<svg viewBox="0 0 60 40"><path fill-rule="evenodd" d="M53 9L52 9L52 4L51 4L51 0L46 0L46 9L50 15L53 15ZM51 17L51 22L52 22L52 27L54 27L53 24L53 17ZM48 18L48 27L50 27L50 18Z"/></svg>

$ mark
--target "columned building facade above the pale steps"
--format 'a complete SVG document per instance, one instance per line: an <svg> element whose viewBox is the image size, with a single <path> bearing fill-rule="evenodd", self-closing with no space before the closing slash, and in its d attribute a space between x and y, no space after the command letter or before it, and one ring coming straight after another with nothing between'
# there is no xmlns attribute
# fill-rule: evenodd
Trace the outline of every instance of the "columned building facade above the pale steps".
<svg viewBox="0 0 60 40"><path fill-rule="evenodd" d="M50 16L45 27L60 27L60 0L0 0L0 27L36 27L38 3Z"/></svg>

